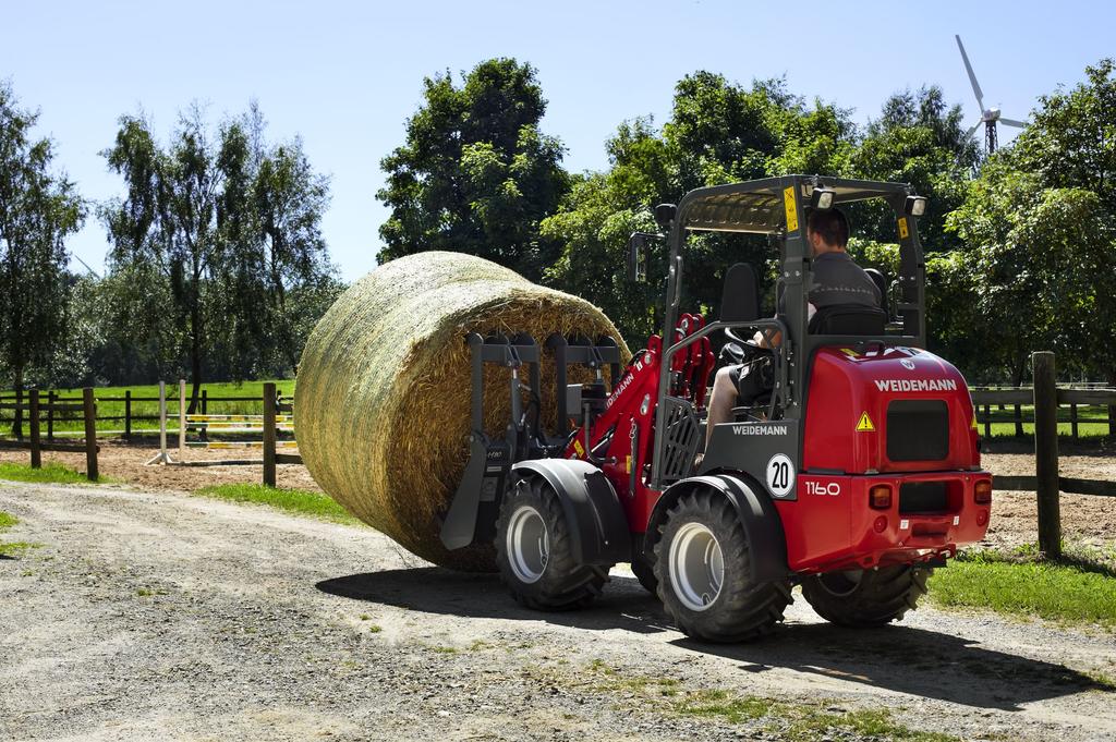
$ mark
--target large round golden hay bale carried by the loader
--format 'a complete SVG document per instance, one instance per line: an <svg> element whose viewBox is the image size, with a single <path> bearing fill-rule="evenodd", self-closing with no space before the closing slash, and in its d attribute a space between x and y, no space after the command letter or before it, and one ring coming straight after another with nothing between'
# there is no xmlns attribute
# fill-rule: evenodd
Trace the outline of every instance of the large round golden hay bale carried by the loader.
<svg viewBox="0 0 1116 742"><path fill-rule="evenodd" d="M355 517L434 563L490 570L490 547L451 552L439 540L437 518L469 455L472 331L522 331L540 344L551 333L609 335L627 355L587 301L480 258L422 252L376 268L315 327L299 364L295 430L310 474ZM541 370L552 411L552 364ZM509 417L507 374L485 378L485 430L498 433Z"/></svg>

